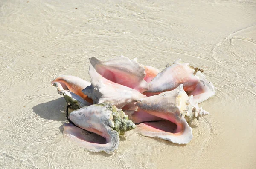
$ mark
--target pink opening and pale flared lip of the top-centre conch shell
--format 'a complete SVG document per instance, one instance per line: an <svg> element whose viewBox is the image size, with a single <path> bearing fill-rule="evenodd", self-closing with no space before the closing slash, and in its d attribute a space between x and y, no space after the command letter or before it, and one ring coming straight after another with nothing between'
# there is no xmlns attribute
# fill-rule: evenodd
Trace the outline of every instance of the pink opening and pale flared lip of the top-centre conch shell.
<svg viewBox="0 0 256 169"><path fill-rule="evenodd" d="M141 93L148 90L148 83L144 80L145 69L136 60L121 56L102 61L92 57L90 63L96 72L114 83L127 86Z"/></svg>

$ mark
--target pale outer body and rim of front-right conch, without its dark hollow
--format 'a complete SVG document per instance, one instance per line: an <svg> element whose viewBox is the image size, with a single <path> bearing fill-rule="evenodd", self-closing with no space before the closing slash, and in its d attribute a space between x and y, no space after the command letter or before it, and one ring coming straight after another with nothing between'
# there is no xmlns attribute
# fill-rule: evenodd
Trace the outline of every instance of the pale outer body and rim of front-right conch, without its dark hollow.
<svg viewBox="0 0 256 169"><path fill-rule="evenodd" d="M172 133L147 127L147 123L140 123L138 126L140 133L144 136L158 137L177 144L189 143L193 137L192 129L182 116L186 112L187 100L188 96L181 84L175 90L147 97L137 102L136 106L145 112L177 125L176 131Z"/></svg>

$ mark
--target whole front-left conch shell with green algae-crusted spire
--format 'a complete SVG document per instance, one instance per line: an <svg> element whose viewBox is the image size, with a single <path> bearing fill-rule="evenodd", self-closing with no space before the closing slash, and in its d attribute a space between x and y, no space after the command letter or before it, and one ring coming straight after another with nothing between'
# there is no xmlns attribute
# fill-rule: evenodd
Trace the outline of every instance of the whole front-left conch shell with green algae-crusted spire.
<svg viewBox="0 0 256 169"><path fill-rule="evenodd" d="M91 152L113 153L119 146L119 134L124 135L125 131L136 127L113 103L83 107L71 112L69 118L79 128L65 123L64 135L75 139Z"/></svg>

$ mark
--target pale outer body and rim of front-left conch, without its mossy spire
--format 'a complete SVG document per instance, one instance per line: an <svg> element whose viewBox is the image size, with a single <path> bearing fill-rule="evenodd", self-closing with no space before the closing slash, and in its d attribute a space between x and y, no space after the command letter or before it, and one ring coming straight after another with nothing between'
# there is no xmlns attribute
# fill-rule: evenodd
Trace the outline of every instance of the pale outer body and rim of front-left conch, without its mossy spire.
<svg viewBox="0 0 256 169"><path fill-rule="evenodd" d="M109 104L94 104L70 113L69 118L76 126L106 139L104 144L84 142L84 147L92 152L113 153L119 146L119 134L112 129L113 116L108 106Z"/></svg>

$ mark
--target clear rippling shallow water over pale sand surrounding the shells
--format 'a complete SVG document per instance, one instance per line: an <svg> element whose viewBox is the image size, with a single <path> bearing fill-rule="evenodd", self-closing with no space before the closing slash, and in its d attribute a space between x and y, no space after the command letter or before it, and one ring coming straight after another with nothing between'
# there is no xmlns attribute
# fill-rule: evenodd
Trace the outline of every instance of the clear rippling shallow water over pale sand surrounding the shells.
<svg viewBox="0 0 256 169"><path fill-rule="evenodd" d="M76 9L77 8L77 9ZM0 168L256 168L255 0L1 0ZM113 155L63 138L65 101L50 82L90 80L89 57L203 68L216 95L186 146L135 130Z"/></svg>

